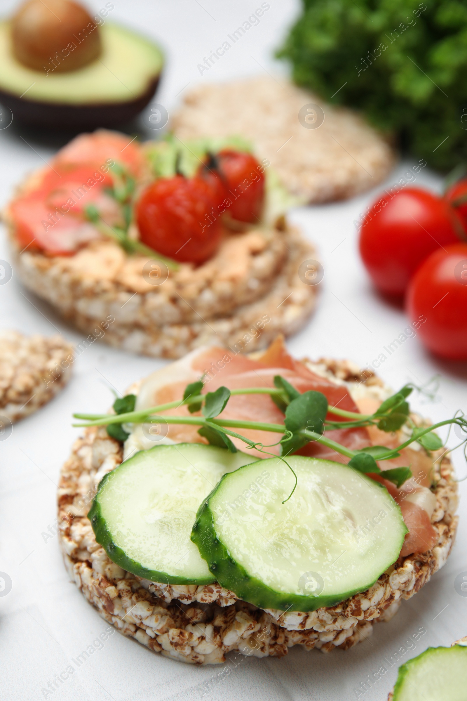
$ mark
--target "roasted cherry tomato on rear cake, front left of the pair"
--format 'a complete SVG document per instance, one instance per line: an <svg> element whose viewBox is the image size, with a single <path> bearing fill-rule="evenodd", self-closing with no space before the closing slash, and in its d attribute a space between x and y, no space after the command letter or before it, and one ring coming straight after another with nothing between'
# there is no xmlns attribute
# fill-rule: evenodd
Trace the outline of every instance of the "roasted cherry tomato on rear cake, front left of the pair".
<svg viewBox="0 0 467 701"><path fill-rule="evenodd" d="M160 178L149 185L136 207L141 241L169 258L200 264L221 240L220 219L214 213L216 193L195 175Z"/></svg>

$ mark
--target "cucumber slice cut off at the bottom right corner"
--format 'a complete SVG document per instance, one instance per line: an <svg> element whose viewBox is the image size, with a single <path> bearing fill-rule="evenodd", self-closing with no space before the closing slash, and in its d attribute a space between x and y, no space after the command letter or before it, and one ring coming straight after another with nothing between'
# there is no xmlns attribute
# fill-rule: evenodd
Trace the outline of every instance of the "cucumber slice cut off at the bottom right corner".
<svg viewBox="0 0 467 701"><path fill-rule="evenodd" d="M465 701L467 648L428 648L399 667L393 701Z"/></svg>

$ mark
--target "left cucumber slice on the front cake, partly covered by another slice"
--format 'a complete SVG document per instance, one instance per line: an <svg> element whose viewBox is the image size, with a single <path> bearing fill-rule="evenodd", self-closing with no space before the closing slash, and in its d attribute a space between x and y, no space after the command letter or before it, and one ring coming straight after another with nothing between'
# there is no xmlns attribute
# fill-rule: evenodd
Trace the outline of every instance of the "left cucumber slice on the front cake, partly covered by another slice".
<svg viewBox="0 0 467 701"><path fill-rule="evenodd" d="M202 443L158 445L105 475L88 518L109 557L154 582L215 581L190 540L196 512L225 472L257 458Z"/></svg>

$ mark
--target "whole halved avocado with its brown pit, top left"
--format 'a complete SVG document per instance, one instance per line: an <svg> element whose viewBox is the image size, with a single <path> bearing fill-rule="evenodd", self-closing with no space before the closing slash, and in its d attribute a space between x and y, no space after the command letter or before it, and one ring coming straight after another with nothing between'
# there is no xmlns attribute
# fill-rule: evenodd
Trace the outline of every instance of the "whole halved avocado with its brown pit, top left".
<svg viewBox="0 0 467 701"><path fill-rule="evenodd" d="M131 121L151 101L163 57L151 39L74 0L28 0L0 20L0 103L13 121L79 132Z"/></svg>

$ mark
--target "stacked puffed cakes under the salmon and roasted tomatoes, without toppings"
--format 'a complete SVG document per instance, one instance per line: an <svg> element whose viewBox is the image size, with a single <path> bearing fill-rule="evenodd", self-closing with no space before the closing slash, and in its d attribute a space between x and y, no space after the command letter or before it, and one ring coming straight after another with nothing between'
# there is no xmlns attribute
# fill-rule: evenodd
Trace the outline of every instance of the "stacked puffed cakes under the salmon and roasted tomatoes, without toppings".
<svg viewBox="0 0 467 701"><path fill-rule="evenodd" d="M14 236L11 243L26 287L86 333L113 318L104 340L134 353L180 358L206 343L235 346L269 318L263 334L251 339L253 351L279 332L297 331L316 304L316 286L298 274L316 253L298 229L285 225L226 236L207 263L167 271L160 285L144 271L151 259L130 257L110 240L55 257L20 252Z"/></svg>

